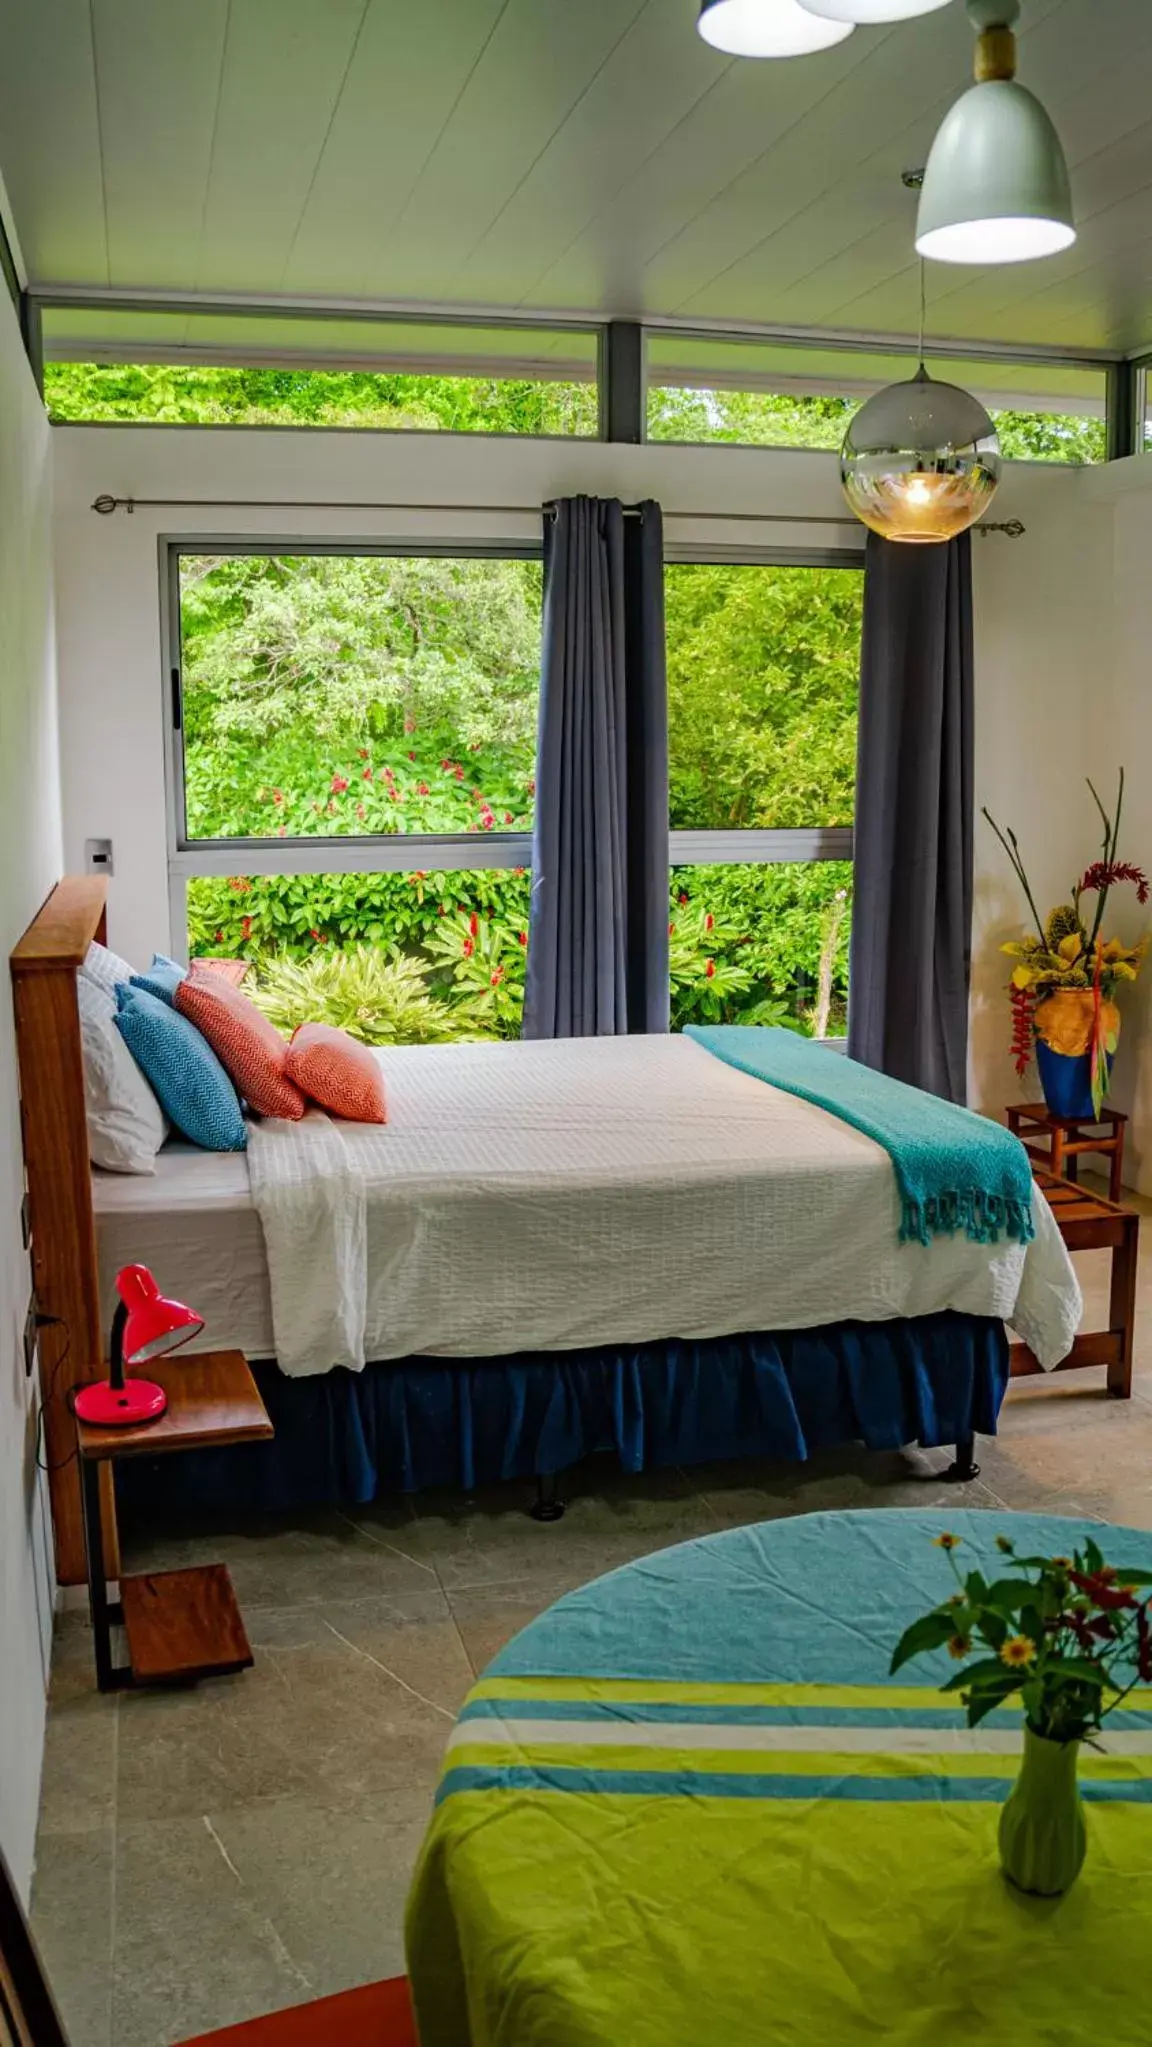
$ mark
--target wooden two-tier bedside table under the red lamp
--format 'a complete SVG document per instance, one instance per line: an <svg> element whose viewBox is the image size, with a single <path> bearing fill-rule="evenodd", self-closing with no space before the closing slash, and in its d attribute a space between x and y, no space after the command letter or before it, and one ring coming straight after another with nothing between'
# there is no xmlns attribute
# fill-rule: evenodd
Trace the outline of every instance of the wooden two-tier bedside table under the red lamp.
<svg viewBox="0 0 1152 2047"><path fill-rule="evenodd" d="M272 1435L256 1380L239 1351L203 1351L190 1357L176 1353L151 1363L147 1376L168 1394L168 1408L160 1421L139 1429L92 1429L88 1423L76 1423L88 1605L100 1691L194 1683L201 1676L246 1670L252 1662L225 1564L121 1578L119 1603L108 1599L100 1466L115 1464L117 1457L162 1457L176 1449L256 1443ZM117 1623L129 1640L127 1664L113 1662Z"/></svg>

